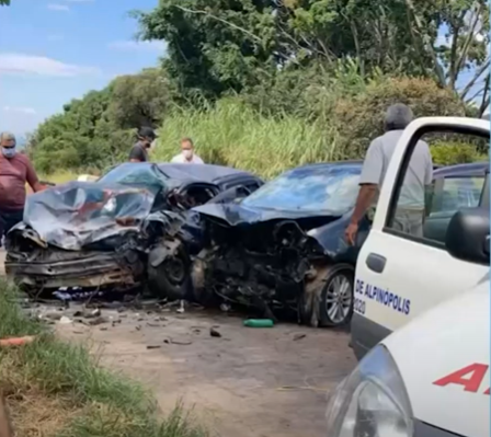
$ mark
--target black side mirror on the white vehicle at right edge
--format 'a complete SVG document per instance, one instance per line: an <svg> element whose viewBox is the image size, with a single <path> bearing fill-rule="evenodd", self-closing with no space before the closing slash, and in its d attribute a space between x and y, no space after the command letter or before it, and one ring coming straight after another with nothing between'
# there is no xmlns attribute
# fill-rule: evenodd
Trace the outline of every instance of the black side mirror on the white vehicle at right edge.
<svg viewBox="0 0 491 437"><path fill-rule="evenodd" d="M490 264L489 209L461 209L452 217L445 246L456 258L469 263Z"/></svg>

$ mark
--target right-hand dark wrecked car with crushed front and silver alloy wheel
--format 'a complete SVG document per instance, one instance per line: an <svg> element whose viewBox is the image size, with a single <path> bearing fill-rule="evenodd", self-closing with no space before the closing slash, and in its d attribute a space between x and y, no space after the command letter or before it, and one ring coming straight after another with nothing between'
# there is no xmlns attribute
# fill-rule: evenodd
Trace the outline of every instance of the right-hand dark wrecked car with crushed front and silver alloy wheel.
<svg viewBox="0 0 491 437"><path fill-rule="evenodd" d="M361 162L307 165L240 203L194 208L205 241L192 266L194 298L246 304L267 318L273 307L290 308L313 326L349 323L359 244L346 245L344 229L361 170ZM359 241L368 229L366 219Z"/></svg>

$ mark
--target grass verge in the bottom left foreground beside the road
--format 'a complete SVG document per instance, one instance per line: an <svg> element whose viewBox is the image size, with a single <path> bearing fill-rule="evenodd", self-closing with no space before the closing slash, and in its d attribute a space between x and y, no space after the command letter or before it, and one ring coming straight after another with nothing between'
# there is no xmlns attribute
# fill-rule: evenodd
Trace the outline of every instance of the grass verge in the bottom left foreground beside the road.
<svg viewBox="0 0 491 437"><path fill-rule="evenodd" d="M141 386L98 366L83 345L57 340L25 315L18 290L0 280L0 338L36 335L0 349L0 388L20 437L204 437L176 405L162 419Z"/></svg>

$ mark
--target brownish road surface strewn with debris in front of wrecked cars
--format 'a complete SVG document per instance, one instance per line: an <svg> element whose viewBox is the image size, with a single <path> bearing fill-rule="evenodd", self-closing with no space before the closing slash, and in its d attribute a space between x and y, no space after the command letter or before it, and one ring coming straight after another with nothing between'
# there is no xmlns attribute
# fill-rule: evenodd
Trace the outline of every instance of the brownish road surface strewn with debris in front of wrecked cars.
<svg viewBox="0 0 491 437"><path fill-rule="evenodd" d="M104 366L151 388L163 411L180 400L194 406L220 436L323 435L327 392L354 367L345 333L248 329L240 318L205 311L103 315L115 323L58 331L92 341ZM210 336L214 326L220 337Z"/></svg>

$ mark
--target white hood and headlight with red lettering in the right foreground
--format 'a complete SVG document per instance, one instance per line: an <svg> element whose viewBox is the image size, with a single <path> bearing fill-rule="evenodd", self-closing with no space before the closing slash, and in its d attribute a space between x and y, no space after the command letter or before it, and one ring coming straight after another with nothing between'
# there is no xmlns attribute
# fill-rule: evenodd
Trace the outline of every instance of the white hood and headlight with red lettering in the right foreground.
<svg viewBox="0 0 491 437"><path fill-rule="evenodd" d="M328 403L329 437L489 437L490 281L373 348Z"/></svg>

